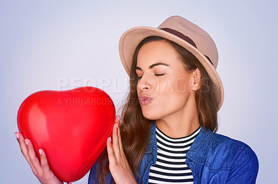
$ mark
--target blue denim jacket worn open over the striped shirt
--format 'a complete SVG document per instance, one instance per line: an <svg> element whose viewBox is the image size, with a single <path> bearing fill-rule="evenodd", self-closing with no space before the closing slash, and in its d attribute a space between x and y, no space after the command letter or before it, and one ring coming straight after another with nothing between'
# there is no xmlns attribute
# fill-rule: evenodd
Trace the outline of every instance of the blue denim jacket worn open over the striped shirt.
<svg viewBox="0 0 278 184"><path fill-rule="evenodd" d="M156 163L156 123L150 129L149 146L139 166L142 183L149 180L149 169ZM202 127L186 154L186 164L190 167L195 184L256 183L259 162L256 154L247 144L229 137L212 133ZM90 170L88 184L97 183L95 174L99 160ZM106 180L111 183L111 174ZM136 178L141 183L140 178Z"/></svg>

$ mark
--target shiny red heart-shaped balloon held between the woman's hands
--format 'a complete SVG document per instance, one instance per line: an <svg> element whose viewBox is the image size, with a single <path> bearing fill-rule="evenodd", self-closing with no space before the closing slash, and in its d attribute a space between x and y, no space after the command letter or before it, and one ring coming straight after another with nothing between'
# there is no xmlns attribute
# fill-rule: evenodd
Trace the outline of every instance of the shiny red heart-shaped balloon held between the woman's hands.
<svg viewBox="0 0 278 184"><path fill-rule="evenodd" d="M42 148L54 174L67 183L85 176L106 146L115 122L113 101L101 89L38 91L19 107L17 125Z"/></svg>

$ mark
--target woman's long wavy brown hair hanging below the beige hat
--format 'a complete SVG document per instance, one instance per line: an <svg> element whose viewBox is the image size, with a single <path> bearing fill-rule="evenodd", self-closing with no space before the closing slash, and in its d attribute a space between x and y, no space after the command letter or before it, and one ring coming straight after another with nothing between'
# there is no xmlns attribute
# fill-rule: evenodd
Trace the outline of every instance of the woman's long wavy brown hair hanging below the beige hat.
<svg viewBox="0 0 278 184"><path fill-rule="evenodd" d="M126 102L122 109L120 122L124 154L129 161L133 174L138 178L140 178L138 166L147 148L149 141L149 128L154 121L150 121L142 115L142 110L138 101L136 90L138 83L138 77L136 75L137 56L142 45L156 40L170 43L170 45L176 49L177 54L179 54L179 57L183 61L184 67L188 72L192 72L197 68L199 69L201 74L201 84L198 91L195 93L199 123L205 130L211 130L212 132L218 130L217 112L219 102L215 90L213 90L213 83L202 64L193 54L177 43L173 43L172 41L159 36L149 36L145 38L139 43L133 54L131 72L129 74L129 95L126 98ZM99 176L99 183L106 183L105 177L109 172L108 164L108 155L105 148L100 156L99 171L97 174Z"/></svg>

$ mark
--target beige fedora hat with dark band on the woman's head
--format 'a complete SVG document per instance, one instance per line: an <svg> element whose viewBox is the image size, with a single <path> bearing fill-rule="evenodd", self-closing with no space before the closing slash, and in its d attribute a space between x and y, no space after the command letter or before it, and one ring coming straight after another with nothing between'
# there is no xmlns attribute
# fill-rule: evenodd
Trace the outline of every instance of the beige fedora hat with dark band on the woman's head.
<svg viewBox="0 0 278 184"><path fill-rule="evenodd" d="M218 50L211 36L199 26L180 16L167 18L158 28L138 26L125 31L119 43L120 58L127 74L131 72L133 53L137 45L148 36L161 36L188 49L202 63L214 84L213 89L218 95L218 110L224 100L221 79L216 72Z"/></svg>

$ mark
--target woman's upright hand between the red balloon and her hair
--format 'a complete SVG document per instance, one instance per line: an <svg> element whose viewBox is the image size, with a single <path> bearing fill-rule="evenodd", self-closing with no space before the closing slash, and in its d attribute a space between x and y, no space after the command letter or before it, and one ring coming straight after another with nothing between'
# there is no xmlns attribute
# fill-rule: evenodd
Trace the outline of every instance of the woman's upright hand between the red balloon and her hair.
<svg viewBox="0 0 278 184"><path fill-rule="evenodd" d="M113 141L111 137L107 139L107 152L109 160L109 169L115 183L136 183L133 171L126 160L124 150L122 148L122 139L119 128L120 116L116 116L113 127Z"/></svg>

